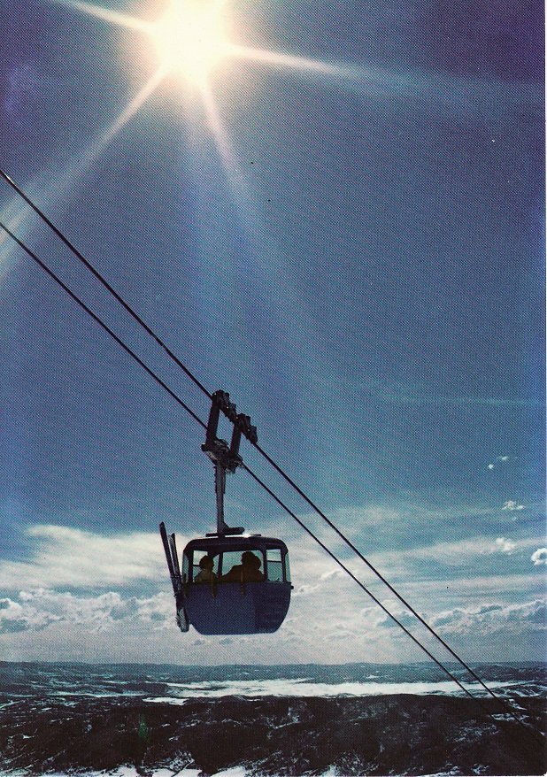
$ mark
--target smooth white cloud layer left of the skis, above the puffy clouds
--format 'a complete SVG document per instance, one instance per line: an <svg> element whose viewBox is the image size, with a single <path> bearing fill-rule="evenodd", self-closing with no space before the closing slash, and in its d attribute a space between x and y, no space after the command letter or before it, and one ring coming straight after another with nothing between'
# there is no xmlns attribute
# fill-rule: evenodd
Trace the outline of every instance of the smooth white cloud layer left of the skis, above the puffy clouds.
<svg viewBox="0 0 547 777"><path fill-rule="evenodd" d="M28 588L105 589L166 575L159 534L109 536L36 525L27 528L27 535L35 541L33 556L26 562L1 561L0 589L19 589L20 581Z"/></svg>

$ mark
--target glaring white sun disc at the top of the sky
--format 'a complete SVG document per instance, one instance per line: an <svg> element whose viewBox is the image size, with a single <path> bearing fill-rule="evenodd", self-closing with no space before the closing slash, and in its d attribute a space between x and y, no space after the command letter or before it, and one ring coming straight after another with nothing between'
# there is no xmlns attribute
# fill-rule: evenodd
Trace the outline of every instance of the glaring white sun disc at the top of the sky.
<svg viewBox="0 0 547 777"><path fill-rule="evenodd" d="M222 11L218 0L174 0L150 28L165 73L181 73L195 84L206 81L229 50Z"/></svg>

